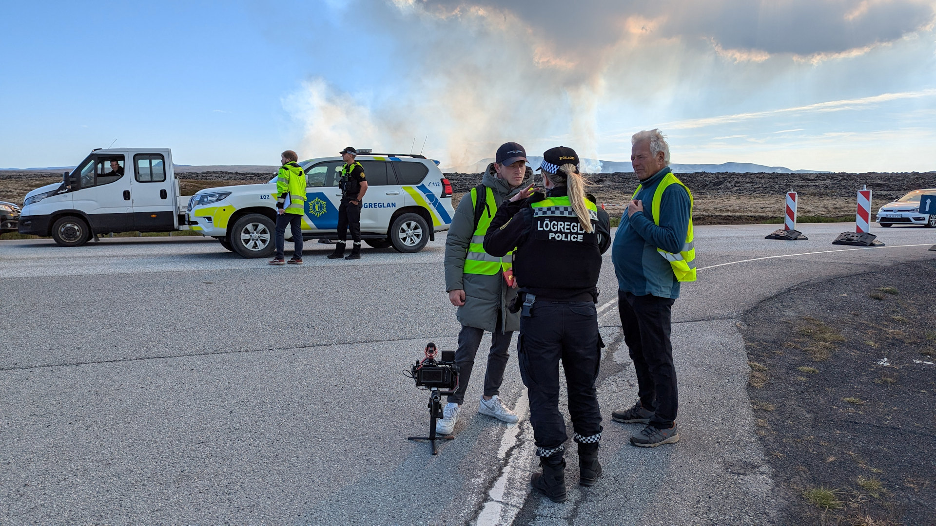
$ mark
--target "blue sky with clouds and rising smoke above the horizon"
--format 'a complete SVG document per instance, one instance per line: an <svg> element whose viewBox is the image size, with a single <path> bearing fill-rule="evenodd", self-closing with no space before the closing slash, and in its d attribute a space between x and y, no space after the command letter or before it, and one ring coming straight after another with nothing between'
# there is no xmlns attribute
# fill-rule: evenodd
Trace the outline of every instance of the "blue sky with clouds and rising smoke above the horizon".
<svg viewBox="0 0 936 526"><path fill-rule="evenodd" d="M275 164L352 144L444 166L625 160L936 169L932 0L7 2L0 167L92 148Z"/></svg>

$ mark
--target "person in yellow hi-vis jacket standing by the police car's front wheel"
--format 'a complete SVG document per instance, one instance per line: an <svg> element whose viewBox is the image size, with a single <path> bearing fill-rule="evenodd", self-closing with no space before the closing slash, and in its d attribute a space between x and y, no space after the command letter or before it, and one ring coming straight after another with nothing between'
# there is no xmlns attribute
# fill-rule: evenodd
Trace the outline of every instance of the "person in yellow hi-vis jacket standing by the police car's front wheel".
<svg viewBox="0 0 936 526"><path fill-rule="evenodd" d="M283 246L285 244L286 225L291 226L293 234L293 256L290 265L302 264L302 217L305 215L305 172L296 161L299 156L292 150L286 150L280 156L279 172L276 175L276 256L271 265L284 265Z"/></svg>

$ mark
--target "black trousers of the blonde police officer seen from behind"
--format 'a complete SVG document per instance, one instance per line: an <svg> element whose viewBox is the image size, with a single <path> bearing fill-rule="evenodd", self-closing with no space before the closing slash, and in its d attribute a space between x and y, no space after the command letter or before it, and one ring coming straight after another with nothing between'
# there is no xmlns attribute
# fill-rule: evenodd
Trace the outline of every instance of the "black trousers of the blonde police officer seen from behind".
<svg viewBox="0 0 936 526"><path fill-rule="evenodd" d="M534 301L520 316L517 354L530 397L536 455L562 454L565 419L559 412L559 361L569 395L569 416L579 444L601 440L601 410L595 380L601 364L598 314L592 301Z"/></svg>

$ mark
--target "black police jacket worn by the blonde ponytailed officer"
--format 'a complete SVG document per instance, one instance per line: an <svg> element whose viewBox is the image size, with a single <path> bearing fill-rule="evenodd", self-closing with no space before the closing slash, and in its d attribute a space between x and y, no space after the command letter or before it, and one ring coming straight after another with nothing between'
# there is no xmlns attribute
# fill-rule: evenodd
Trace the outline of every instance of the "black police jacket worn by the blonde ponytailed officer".
<svg viewBox="0 0 936 526"><path fill-rule="evenodd" d="M549 197L567 195L565 186L549 191ZM540 193L516 202L505 202L497 209L484 236L484 251L491 256L513 256L513 270L520 290L542 300L581 301L596 299L595 285L601 271L601 255L611 245L611 227L607 212L598 209L592 220L592 234L576 237L548 236L540 232L543 221L534 220L531 203L546 196ZM578 223L578 217L558 221ZM537 226L538 225L538 226ZM559 238L559 239L557 239Z"/></svg>

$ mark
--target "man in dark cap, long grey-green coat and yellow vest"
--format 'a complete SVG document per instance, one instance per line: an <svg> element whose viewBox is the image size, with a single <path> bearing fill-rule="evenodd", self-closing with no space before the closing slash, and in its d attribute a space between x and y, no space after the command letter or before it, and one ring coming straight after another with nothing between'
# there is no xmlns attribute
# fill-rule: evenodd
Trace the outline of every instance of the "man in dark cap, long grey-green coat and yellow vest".
<svg viewBox="0 0 936 526"><path fill-rule="evenodd" d="M436 432L449 434L459 419L465 389L475 365L475 355L485 331L491 333L488 369L478 412L505 422L519 416L505 406L499 392L510 355L507 353L519 314L509 307L517 298L513 285L511 255L494 257L484 252L482 243L491 218L508 198L533 182L533 170L526 166L526 152L516 142L503 144L481 177L481 184L461 197L446 237L446 292L458 307L461 323L455 361L461 367L459 387L448 397ZM511 283L507 283L507 280Z"/></svg>

